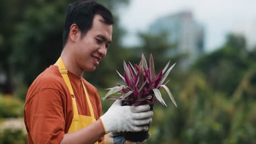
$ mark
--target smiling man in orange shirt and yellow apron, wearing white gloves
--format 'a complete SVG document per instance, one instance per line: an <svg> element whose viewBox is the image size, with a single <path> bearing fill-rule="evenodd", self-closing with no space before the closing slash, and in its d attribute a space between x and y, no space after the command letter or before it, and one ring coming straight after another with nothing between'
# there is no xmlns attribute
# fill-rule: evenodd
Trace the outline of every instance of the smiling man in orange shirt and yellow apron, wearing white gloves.
<svg viewBox="0 0 256 144"><path fill-rule="evenodd" d="M113 16L94 1L69 4L61 57L28 89L24 119L28 143L129 143L112 132L148 130L149 105L115 103L101 116L94 86L83 79L106 56L112 41ZM105 136L109 134L110 136Z"/></svg>

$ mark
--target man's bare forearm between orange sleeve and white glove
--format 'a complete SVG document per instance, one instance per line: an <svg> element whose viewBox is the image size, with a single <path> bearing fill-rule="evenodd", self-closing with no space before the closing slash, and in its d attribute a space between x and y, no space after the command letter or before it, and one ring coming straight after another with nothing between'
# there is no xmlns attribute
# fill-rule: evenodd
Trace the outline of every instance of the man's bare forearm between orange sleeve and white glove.
<svg viewBox="0 0 256 144"><path fill-rule="evenodd" d="M61 144L65 143L95 143L101 139L104 135L104 129L101 124L100 119L95 123L92 123L88 127L80 129L78 131L74 131L73 133L64 134L63 139L61 140Z"/></svg>

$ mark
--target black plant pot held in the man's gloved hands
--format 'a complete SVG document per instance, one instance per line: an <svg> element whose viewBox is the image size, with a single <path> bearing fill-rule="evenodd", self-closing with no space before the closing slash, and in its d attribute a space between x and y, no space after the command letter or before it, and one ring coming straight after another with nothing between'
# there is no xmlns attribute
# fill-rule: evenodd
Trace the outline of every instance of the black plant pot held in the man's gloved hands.
<svg viewBox="0 0 256 144"><path fill-rule="evenodd" d="M150 105L150 110L153 110L154 105ZM149 124L147 125L149 129ZM130 131L124 131L123 136L125 140L129 140L132 142L142 142L146 139L148 139L148 130L147 131L138 131L138 132L130 132Z"/></svg>

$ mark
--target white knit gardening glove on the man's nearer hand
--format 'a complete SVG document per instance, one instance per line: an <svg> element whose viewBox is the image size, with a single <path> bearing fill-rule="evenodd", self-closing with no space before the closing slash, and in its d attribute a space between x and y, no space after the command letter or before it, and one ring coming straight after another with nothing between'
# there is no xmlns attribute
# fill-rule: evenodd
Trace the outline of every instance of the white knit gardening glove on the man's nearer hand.
<svg viewBox="0 0 256 144"><path fill-rule="evenodd" d="M153 111L149 110L149 105L121 106L121 100L116 100L100 119L106 134L120 131L146 131L148 126L145 125L152 121L153 116Z"/></svg>

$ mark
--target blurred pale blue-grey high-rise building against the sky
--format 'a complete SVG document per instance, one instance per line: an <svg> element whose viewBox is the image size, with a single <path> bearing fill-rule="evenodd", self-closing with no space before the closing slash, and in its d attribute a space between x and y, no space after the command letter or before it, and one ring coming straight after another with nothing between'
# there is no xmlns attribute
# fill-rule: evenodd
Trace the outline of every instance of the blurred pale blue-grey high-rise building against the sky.
<svg viewBox="0 0 256 144"><path fill-rule="evenodd" d="M150 25L149 31L156 35L167 32L170 44L177 44L177 50L170 51L169 54L187 55L187 58L180 63L182 68L188 68L204 52L204 29L195 21L190 11L160 17Z"/></svg>

